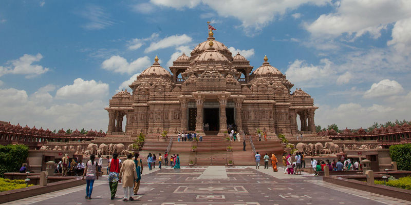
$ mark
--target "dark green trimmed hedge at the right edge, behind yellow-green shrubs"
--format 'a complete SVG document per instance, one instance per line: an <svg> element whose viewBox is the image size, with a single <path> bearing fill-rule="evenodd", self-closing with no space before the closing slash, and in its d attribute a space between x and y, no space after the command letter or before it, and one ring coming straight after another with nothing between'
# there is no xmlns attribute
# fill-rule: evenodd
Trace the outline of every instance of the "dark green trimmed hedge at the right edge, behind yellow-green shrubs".
<svg viewBox="0 0 411 205"><path fill-rule="evenodd" d="M411 171L411 144L391 145L389 155L397 162L398 170Z"/></svg>

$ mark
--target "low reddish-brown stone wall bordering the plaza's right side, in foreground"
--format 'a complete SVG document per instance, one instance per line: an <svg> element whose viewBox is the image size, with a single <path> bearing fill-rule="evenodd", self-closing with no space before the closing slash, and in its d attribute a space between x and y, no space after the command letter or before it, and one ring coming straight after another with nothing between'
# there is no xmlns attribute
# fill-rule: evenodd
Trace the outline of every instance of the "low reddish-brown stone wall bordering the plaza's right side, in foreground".
<svg viewBox="0 0 411 205"><path fill-rule="evenodd" d="M365 178L365 176L364 176ZM329 176L323 177L324 181L333 183L334 185L340 185L344 187L349 187L353 189L363 190L375 194L380 194L384 196L399 198L407 201L411 201L411 190L400 189L395 187L389 187L384 185L367 185L366 182L347 179L339 176Z"/></svg>

